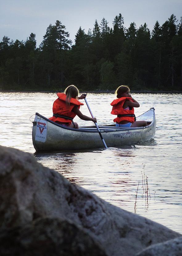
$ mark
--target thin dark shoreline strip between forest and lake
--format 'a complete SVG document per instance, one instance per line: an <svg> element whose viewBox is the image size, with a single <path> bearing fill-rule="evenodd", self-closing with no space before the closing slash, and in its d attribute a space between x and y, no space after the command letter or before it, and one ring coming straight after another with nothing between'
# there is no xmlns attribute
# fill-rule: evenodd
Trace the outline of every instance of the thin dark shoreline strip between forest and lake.
<svg viewBox="0 0 182 256"><path fill-rule="evenodd" d="M59 91L16 91L16 90L0 90L0 93L57 93ZM62 90L60 90L62 92ZM115 90L93 90L81 93L115 93ZM182 91L151 91L151 90L131 90L131 93L182 93Z"/></svg>

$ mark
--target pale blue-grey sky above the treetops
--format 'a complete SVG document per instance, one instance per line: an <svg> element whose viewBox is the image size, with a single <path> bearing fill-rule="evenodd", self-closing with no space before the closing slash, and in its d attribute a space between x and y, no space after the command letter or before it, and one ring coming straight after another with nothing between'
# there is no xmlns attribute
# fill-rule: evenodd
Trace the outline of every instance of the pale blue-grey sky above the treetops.
<svg viewBox="0 0 182 256"><path fill-rule="evenodd" d="M146 22L152 31L156 20L162 25L172 14L180 21L182 0L0 0L0 41L3 36L25 41L34 33L38 47L49 24L60 20L74 44L80 26L88 33L104 17L112 27L119 13L126 28L131 22L137 28Z"/></svg>

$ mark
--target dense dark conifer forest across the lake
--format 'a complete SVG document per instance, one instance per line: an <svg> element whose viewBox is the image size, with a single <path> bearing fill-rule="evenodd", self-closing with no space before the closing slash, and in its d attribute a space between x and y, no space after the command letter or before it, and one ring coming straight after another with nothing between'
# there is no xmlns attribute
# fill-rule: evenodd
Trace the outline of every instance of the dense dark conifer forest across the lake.
<svg viewBox="0 0 182 256"><path fill-rule="evenodd" d="M84 91L132 90L181 91L182 18L174 14L150 32L147 24L124 27L121 14L108 27L105 18L93 30L81 27L75 44L65 26L50 24L36 47L35 34L26 41L0 42L0 89L58 91L74 84Z"/></svg>

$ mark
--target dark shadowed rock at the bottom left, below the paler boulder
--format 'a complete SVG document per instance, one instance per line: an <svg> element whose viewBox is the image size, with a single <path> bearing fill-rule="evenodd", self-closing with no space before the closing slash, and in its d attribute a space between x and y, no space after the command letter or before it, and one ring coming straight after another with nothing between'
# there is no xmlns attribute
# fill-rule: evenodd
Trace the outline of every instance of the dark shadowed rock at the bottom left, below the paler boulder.
<svg viewBox="0 0 182 256"><path fill-rule="evenodd" d="M0 255L107 256L81 227L67 220L39 218L0 232Z"/></svg>

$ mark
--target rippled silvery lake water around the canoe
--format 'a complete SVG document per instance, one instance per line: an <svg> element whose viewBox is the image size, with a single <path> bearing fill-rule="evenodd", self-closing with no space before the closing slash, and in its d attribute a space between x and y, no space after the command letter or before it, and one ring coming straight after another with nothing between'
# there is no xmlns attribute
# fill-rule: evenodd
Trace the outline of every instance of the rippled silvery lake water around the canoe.
<svg viewBox="0 0 182 256"><path fill-rule="evenodd" d="M182 94L131 95L140 103L140 107L135 108L136 116L155 108L156 133L150 142L108 150L40 154L32 144L31 121L35 112L48 118L52 116L56 93L0 93L0 145L32 153L44 166L107 202L182 233ZM113 123L110 102L114 98L111 93L87 95L99 125ZM90 116L86 104L80 110ZM93 124L78 117L74 120L80 126ZM144 182L142 184L143 171L148 177L148 197Z"/></svg>

